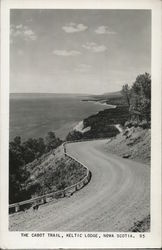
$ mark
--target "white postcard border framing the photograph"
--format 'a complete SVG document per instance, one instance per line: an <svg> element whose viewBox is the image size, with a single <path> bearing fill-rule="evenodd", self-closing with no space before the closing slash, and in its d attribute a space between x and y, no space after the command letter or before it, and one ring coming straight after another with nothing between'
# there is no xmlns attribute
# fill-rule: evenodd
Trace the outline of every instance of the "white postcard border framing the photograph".
<svg viewBox="0 0 162 250"><path fill-rule="evenodd" d="M161 1L160 0L2 0L0 110L0 247L3 248L160 248L161 247ZM145 238L81 240L21 238L8 231L9 10L15 9L151 9L152 10L152 160L151 233Z"/></svg>

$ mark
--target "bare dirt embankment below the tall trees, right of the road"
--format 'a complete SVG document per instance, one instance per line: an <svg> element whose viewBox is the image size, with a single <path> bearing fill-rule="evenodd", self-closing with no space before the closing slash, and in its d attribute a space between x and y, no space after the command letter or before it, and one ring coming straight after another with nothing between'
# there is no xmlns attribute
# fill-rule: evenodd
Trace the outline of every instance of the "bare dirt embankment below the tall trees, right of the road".
<svg viewBox="0 0 162 250"><path fill-rule="evenodd" d="M127 128L110 140L105 149L123 158L150 164L151 158L151 130L142 128Z"/></svg>

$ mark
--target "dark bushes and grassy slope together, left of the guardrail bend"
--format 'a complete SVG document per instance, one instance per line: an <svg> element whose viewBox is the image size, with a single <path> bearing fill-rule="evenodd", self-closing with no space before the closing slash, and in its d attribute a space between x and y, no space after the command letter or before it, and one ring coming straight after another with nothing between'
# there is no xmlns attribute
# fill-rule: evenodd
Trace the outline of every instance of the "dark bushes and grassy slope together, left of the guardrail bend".
<svg viewBox="0 0 162 250"><path fill-rule="evenodd" d="M9 146L9 203L62 190L86 176L86 169L64 157L53 132L43 138L20 137Z"/></svg>

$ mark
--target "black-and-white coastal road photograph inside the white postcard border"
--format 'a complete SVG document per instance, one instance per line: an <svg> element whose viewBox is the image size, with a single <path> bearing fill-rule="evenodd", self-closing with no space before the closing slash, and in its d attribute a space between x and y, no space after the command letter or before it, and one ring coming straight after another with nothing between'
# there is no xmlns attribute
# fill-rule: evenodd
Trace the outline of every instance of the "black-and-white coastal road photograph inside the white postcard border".
<svg viewBox="0 0 162 250"><path fill-rule="evenodd" d="M11 8L8 46L8 231L145 238L152 10Z"/></svg>

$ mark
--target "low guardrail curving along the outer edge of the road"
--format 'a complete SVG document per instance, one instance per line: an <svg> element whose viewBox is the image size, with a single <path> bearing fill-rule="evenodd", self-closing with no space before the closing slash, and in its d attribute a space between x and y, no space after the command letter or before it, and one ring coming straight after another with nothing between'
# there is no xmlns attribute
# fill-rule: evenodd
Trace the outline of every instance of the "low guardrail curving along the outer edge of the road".
<svg viewBox="0 0 162 250"><path fill-rule="evenodd" d="M53 200L53 199L58 199L58 198L63 198L66 196L71 196L73 193L75 193L76 191L80 190L81 188L83 188L85 185L88 184L88 182L91 179L91 172L89 171L89 169L82 164L81 162L79 162L77 159L75 159L74 157L70 156L69 154L66 153L66 143L64 142L62 144L63 146L63 150L64 150L64 154L66 157L69 157L70 159L74 160L75 162L79 163L82 167L86 168L86 176L79 182L77 182L76 184L73 184L63 190L59 190L59 191L55 191L55 192L51 192L48 194L44 194L42 196L39 197L35 197L29 200L25 200L25 201L21 201L21 202L17 202L17 203L13 203L9 205L9 213L14 213L14 212L18 212L20 210L25 210L30 208L33 204L38 204L38 205L42 205L45 203L48 203L49 201Z"/></svg>

